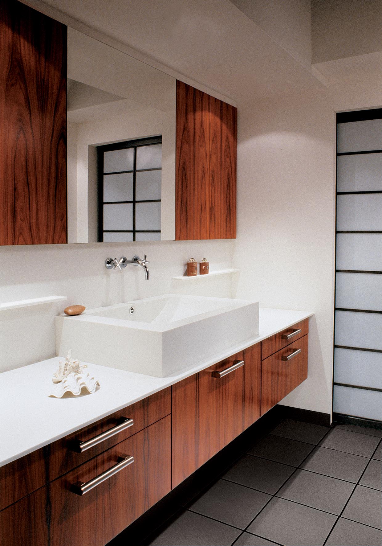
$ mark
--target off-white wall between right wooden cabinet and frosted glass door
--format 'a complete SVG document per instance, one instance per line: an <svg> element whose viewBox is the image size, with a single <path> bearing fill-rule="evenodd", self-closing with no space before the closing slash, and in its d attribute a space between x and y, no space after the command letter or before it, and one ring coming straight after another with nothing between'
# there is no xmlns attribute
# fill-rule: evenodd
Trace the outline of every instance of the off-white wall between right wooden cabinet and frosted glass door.
<svg viewBox="0 0 382 546"><path fill-rule="evenodd" d="M238 297L311 310L308 379L283 403L331 412L335 114L323 96L238 112Z"/></svg>

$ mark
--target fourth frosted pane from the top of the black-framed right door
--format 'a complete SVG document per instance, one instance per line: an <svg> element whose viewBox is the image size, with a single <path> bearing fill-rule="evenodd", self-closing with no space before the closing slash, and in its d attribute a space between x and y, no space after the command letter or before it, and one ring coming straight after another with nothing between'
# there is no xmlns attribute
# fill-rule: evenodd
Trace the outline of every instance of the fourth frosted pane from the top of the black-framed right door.
<svg viewBox="0 0 382 546"><path fill-rule="evenodd" d="M382 271L382 235L338 233L337 269Z"/></svg>

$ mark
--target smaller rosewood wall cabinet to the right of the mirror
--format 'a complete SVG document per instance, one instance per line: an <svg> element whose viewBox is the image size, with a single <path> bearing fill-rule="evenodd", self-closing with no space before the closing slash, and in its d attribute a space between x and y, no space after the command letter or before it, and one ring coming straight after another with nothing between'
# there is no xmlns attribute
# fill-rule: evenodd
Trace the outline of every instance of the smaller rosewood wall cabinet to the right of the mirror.
<svg viewBox="0 0 382 546"><path fill-rule="evenodd" d="M176 240L236 238L236 115L176 82Z"/></svg>

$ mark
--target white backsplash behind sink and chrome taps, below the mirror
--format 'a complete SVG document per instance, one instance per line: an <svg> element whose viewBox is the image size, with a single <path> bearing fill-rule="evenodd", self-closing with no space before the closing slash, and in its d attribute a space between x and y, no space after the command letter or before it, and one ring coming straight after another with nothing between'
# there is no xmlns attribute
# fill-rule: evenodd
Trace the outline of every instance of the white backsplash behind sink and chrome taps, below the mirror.
<svg viewBox="0 0 382 546"><path fill-rule="evenodd" d="M55 355L54 317L72 304L87 308L166 294L190 257L210 270L231 268L234 241L163 241L0 247L0 302L67 296L68 300L0 312L0 372ZM128 265L108 271L106 258L147 254L150 280ZM226 294L222 294L224 296ZM110 343L112 351L112 341Z"/></svg>

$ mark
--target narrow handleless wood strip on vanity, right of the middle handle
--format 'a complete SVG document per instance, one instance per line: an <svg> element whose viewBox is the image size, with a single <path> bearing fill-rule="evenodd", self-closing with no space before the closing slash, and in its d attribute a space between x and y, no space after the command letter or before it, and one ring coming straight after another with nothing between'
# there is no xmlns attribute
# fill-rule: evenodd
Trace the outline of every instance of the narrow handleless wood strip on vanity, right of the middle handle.
<svg viewBox="0 0 382 546"><path fill-rule="evenodd" d="M261 343L244 351L243 430L260 417Z"/></svg>

